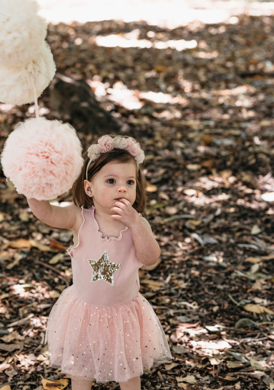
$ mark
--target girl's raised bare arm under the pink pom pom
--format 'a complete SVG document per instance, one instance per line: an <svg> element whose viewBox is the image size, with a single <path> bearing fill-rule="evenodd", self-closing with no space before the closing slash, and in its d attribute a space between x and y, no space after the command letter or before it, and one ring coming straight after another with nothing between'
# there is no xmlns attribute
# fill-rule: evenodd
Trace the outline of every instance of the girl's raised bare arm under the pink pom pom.
<svg viewBox="0 0 274 390"><path fill-rule="evenodd" d="M33 198L27 201L32 213L49 226L75 230L82 223L81 208L78 206L53 206L48 200Z"/></svg>

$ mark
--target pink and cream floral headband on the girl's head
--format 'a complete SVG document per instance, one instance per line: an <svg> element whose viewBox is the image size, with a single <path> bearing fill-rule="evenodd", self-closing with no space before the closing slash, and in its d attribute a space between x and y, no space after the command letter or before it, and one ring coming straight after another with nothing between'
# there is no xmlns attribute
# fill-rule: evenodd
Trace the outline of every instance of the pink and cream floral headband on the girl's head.
<svg viewBox="0 0 274 390"><path fill-rule="evenodd" d="M92 161L97 160L97 158L103 154L112 151L112 149L123 149L128 151L137 164L141 164L144 161L144 151L141 149L139 143L135 141L132 137L110 137L109 135L103 135L98 139L97 144L93 144L87 149L87 156L89 157L89 162L85 170L85 178L87 179L87 170Z"/></svg>

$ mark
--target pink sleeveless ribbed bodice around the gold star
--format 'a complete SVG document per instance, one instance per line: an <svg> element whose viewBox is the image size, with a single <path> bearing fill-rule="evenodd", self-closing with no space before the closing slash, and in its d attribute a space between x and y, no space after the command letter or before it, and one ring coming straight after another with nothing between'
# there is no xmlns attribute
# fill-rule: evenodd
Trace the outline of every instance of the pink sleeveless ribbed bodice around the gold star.
<svg viewBox="0 0 274 390"><path fill-rule="evenodd" d="M68 248L75 294L93 306L116 306L131 301L138 295L138 269L142 266L136 257L131 230L126 227L118 238L103 238L94 218L94 207L82 207L82 216L78 244ZM113 274L113 285L105 280L91 282L94 271L89 260L97 261L105 251L111 262L121 264Z"/></svg>

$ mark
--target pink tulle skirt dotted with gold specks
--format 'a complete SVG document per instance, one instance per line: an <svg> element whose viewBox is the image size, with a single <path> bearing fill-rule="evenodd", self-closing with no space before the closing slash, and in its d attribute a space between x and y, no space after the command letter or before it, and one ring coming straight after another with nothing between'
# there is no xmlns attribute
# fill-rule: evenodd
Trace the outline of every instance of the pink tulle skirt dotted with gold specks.
<svg viewBox="0 0 274 390"><path fill-rule="evenodd" d="M125 382L171 360L158 317L141 294L123 305L95 307L70 286L50 312L46 341L53 367L102 383Z"/></svg>

